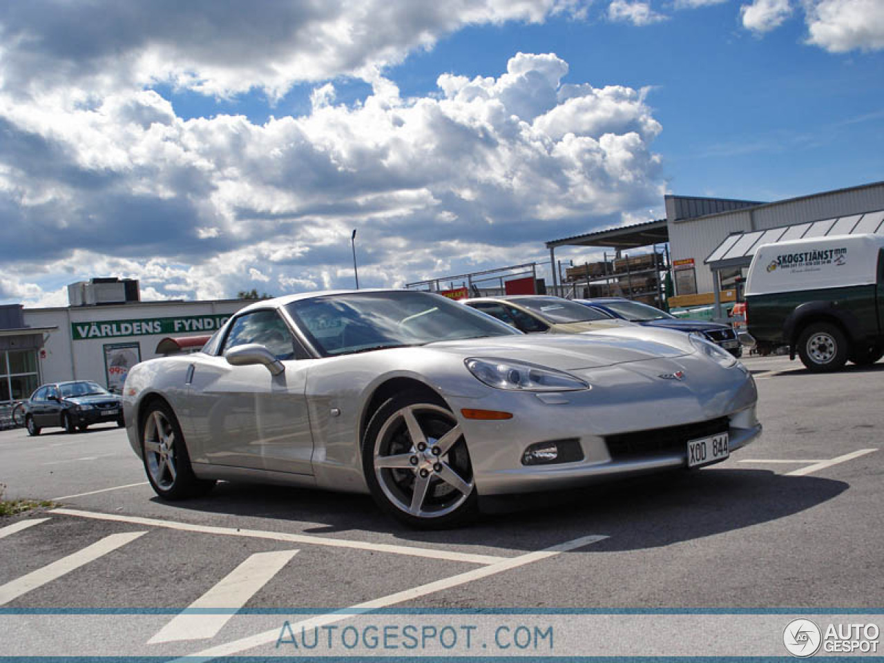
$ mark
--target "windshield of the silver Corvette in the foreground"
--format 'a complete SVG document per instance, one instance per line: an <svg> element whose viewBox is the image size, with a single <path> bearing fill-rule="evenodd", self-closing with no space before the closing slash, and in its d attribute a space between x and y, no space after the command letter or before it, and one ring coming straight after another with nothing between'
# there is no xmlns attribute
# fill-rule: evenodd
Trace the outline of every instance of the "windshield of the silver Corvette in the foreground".
<svg viewBox="0 0 884 663"><path fill-rule="evenodd" d="M520 334L455 301L416 291L330 294L293 301L286 310L324 356Z"/></svg>

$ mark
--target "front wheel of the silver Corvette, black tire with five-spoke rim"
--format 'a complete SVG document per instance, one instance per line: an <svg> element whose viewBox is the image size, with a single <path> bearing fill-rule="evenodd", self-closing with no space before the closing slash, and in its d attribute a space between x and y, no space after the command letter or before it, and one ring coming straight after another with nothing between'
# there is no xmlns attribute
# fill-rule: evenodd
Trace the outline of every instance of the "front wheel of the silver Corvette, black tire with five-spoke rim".
<svg viewBox="0 0 884 663"><path fill-rule="evenodd" d="M431 394L402 392L377 409L362 440L362 471L377 506L409 527L445 530L476 516L467 442L451 410Z"/></svg>

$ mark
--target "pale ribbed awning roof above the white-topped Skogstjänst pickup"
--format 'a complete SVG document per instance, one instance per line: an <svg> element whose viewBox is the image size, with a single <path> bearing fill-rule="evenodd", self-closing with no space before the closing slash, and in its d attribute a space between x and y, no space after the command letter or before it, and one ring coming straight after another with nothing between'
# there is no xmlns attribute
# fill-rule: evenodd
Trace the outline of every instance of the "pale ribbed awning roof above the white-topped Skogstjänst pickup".
<svg viewBox="0 0 884 663"><path fill-rule="evenodd" d="M703 262L713 270L742 267L751 263L758 247L781 241L873 233L884 235L884 210L826 218L812 223L782 225L770 230L734 232L728 235Z"/></svg>

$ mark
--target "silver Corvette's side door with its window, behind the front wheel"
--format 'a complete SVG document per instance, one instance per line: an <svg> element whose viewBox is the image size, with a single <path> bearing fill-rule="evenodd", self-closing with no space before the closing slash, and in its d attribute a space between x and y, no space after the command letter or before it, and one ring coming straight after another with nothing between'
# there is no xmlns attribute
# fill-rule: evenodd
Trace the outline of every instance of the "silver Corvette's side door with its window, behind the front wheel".
<svg viewBox="0 0 884 663"><path fill-rule="evenodd" d="M274 376L261 364L225 360L226 350L249 343L267 347L286 370ZM186 408L194 461L312 474L309 360L295 358L303 356L296 344L278 312L262 309L234 318L216 355L194 358Z"/></svg>

